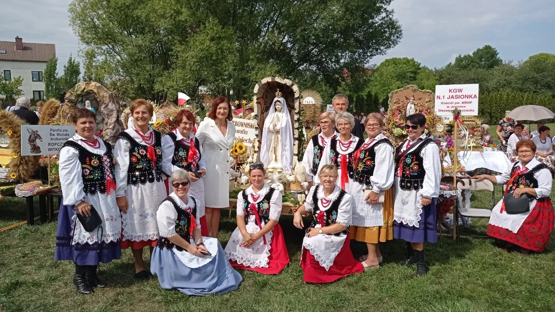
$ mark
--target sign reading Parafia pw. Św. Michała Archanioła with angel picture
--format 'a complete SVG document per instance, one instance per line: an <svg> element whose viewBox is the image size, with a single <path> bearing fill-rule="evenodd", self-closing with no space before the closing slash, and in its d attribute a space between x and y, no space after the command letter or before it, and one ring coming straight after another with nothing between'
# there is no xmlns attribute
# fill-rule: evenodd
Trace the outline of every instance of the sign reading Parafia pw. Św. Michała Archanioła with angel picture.
<svg viewBox="0 0 555 312"><path fill-rule="evenodd" d="M75 135L73 125L21 125L21 155L56 155Z"/></svg>

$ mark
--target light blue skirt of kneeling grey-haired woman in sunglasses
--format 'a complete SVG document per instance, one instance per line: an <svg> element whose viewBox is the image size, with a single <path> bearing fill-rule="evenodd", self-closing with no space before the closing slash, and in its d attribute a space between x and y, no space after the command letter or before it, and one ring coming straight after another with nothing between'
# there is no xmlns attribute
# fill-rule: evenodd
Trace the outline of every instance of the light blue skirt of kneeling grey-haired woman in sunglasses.
<svg viewBox="0 0 555 312"><path fill-rule="evenodd" d="M160 287L198 296L225 294L238 289L243 280L241 274L231 268L219 243L214 259L194 269L183 264L173 250L155 247L150 259L150 272L158 277Z"/></svg>

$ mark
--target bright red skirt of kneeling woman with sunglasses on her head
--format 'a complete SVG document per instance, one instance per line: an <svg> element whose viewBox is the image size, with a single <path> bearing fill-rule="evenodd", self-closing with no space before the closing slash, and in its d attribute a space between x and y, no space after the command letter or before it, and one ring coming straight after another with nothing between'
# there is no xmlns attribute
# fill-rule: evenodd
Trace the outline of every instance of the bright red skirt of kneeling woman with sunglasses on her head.
<svg viewBox="0 0 555 312"><path fill-rule="evenodd" d="M285 266L289 264L289 253L287 253L287 246L285 246L285 238L281 225L276 224L273 229L272 242L270 248L270 256L268 257L268 268L251 268L243 264L238 264L236 261L229 260L229 263L235 269L255 271L262 274L279 274Z"/></svg>

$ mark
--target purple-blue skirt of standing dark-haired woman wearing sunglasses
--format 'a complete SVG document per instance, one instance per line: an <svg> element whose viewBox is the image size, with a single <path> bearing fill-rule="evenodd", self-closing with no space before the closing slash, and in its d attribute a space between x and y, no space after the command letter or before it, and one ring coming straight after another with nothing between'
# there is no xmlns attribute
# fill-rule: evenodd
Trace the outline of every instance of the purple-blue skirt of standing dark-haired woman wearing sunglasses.
<svg viewBox="0 0 555 312"><path fill-rule="evenodd" d="M422 207L418 228L393 221L393 238L410 243L437 243L436 202L437 199L433 198L431 204Z"/></svg>

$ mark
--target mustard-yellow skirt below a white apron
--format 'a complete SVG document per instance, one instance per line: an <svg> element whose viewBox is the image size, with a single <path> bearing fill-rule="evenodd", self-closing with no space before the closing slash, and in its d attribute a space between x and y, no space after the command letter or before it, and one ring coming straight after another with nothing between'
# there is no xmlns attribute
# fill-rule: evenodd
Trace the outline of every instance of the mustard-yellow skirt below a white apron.
<svg viewBox="0 0 555 312"><path fill-rule="evenodd" d="M385 191L384 225L381 227L355 227L351 226L351 239L364 241L369 244L384 243L393 239L393 188Z"/></svg>

